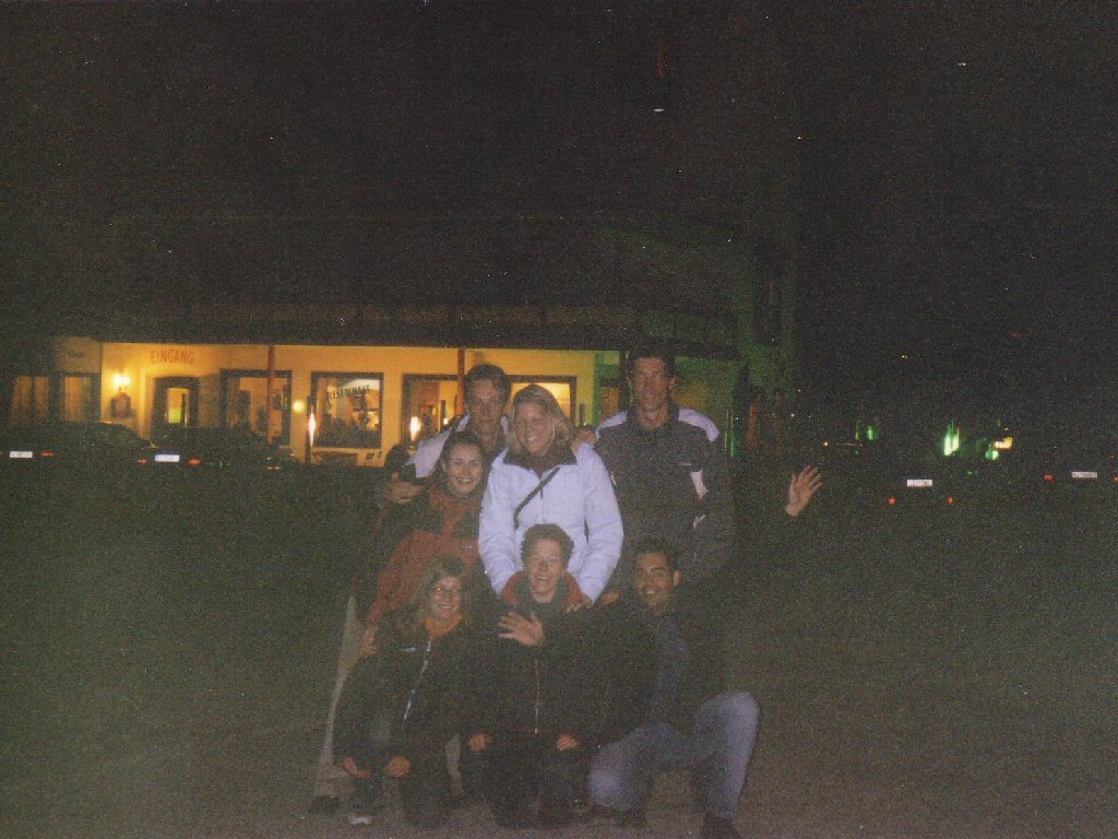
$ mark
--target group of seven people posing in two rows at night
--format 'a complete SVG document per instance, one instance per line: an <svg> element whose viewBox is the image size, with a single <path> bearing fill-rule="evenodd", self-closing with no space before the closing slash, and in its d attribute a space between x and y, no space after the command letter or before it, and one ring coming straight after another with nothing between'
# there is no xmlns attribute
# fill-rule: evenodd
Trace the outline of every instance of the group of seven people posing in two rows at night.
<svg viewBox="0 0 1118 839"><path fill-rule="evenodd" d="M673 402L671 353L638 347L625 375L632 407L582 440L539 385L506 417L509 378L479 365L466 415L392 474L312 810L349 786L368 822L387 775L421 827L474 798L502 827L639 826L655 773L690 769L702 836L739 836L758 708L722 690L729 464L714 424ZM793 475L785 511L818 488L812 468Z"/></svg>

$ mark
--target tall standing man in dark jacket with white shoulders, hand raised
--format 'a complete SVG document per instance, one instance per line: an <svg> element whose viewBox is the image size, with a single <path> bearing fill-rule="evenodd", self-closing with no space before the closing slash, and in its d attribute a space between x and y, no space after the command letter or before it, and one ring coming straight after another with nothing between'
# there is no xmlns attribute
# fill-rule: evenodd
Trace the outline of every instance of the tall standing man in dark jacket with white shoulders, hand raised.
<svg viewBox="0 0 1118 839"><path fill-rule="evenodd" d="M624 371L633 404L598 426L595 446L613 478L625 528L610 587L631 579L634 546L656 537L679 552L683 593L690 595L735 556L729 460L718 426L672 399L671 351L638 346L626 356ZM794 477L785 511L798 515L818 487L817 470Z"/></svg>

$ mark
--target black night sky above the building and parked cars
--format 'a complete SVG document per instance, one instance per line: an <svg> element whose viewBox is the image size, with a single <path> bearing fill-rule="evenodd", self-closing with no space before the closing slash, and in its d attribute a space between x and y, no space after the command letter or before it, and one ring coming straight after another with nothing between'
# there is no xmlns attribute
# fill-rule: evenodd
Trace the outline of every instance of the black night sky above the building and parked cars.
<svg viewBox="0 0 1118 839"><path fill-rule="evenodd" d="M4 7L9 293L189 299L331 236L344 277L387 217L748 229L775 144L809 377L1115 371L1107 4L692 6Z"/></svg>

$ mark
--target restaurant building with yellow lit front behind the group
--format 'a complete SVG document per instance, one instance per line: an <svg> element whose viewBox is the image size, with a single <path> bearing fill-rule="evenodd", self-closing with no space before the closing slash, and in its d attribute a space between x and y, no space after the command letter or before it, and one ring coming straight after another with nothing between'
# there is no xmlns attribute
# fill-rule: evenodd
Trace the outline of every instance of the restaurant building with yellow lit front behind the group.
<svg viewBox="0 0 1118 839"><path fill-rule="evenodd" d="M153 440L174 425L236 426L307 462L379 465L462 412L458 376L474 364L500 365L515 386L543 384L572 422L596 423L627 403L620 351L653 339L680 359L678 400L711 416L735 452L779 446L795 373L790 243L632 225L559 234L587 256L556 287L585 286L581 299L107 312L21 352L4 413L16 424L106 420Z"/></svg>

